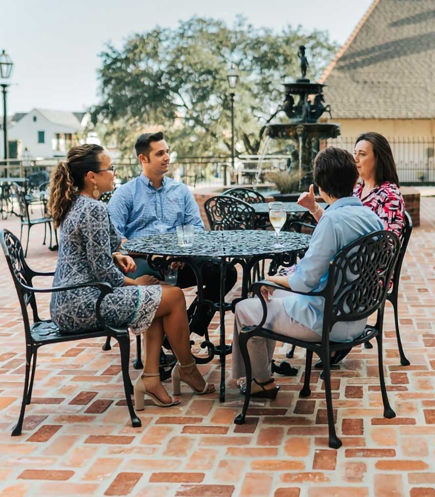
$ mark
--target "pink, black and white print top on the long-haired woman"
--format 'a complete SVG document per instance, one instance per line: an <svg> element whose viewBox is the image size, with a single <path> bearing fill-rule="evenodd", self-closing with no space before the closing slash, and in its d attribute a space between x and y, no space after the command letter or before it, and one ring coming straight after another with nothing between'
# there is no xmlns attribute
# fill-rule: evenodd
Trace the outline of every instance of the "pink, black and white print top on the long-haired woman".
<svg viewBox="0 0 435 497"><path fill-rule="evenodd" d="M358 183L354 188L354 197L360 198L363 205L379 216L387 231L392 231L400 238L405 225L405 202L399 187L385 181L362 198L363 188L364 182Z"/></svg>

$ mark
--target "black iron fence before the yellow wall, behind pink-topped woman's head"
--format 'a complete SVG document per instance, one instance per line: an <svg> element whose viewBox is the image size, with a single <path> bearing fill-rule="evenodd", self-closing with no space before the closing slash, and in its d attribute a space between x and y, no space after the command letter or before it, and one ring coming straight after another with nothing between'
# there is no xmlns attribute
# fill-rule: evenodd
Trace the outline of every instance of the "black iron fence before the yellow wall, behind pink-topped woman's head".
<svg viewBox="0 0 435 497"><path fill-rule="evenodd" d="M387 139L401 184L435 184L435 137L387 137ZM328 140L328 146L341 147L353 152L355 141L356 137L339 137Z"/></svg>

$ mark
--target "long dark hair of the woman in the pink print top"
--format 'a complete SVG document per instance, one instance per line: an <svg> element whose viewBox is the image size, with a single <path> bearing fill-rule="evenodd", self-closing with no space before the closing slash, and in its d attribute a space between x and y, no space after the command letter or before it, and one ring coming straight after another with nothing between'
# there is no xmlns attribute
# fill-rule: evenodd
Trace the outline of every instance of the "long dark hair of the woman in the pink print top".
<svg viewBox="0 0 435 497"><path fill-rule="evenodd" d="M357 138L355 146L357 146L357 143L362 140L370 142L373 148L375 160L374 182L376 186L385 183L385 181L389 181L390 183L394 183L400 187L396 163L394 162L393 153L391 152L388 140L383 135L371 131L369 133L362 133Z"/></svg>

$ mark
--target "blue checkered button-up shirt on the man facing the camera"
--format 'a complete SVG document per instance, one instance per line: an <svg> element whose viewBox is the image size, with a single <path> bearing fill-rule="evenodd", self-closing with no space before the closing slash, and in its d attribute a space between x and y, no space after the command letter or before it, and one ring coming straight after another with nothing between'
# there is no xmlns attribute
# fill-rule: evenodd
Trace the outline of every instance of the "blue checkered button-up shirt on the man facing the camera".
<svg viewBox="0 0 435 497"><path fill-rule="evenodd" d="M108 203L110 219L123 238L132 239L175 231L179 225L204 230L189 188L164 177L159 188L142 173L117 188Z"/></svg>

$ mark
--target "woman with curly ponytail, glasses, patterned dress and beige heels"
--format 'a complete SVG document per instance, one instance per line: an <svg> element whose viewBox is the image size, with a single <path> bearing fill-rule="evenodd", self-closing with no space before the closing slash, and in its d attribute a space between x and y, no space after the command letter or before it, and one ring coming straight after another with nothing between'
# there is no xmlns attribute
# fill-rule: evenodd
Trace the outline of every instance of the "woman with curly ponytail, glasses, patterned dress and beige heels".
<svg viewBox="0 0 435 497"><path fill-rule="evenodd" d="M128 325L134 334L143 333L145 367L135 385L135 407L144 409L144 395L161 407L178 404L158 378L158 361L164 334L178 359L173 387L179 395L180 380L197 394L215 390L198 371L189 343L186 301L178 287L164 285L152 276L129 278L134 260L116 252L121 237L112 225L99 196L114 188L115 172L110 157L98 145L73 147L66 162L52 174L49 211L60 227L58 266L54 286L88 281L110 283L113 293L104 297L101 314L112 326ZM85 287L54 293L50 311L60 329L97 329L95 304L99 290Z"/></svg>

